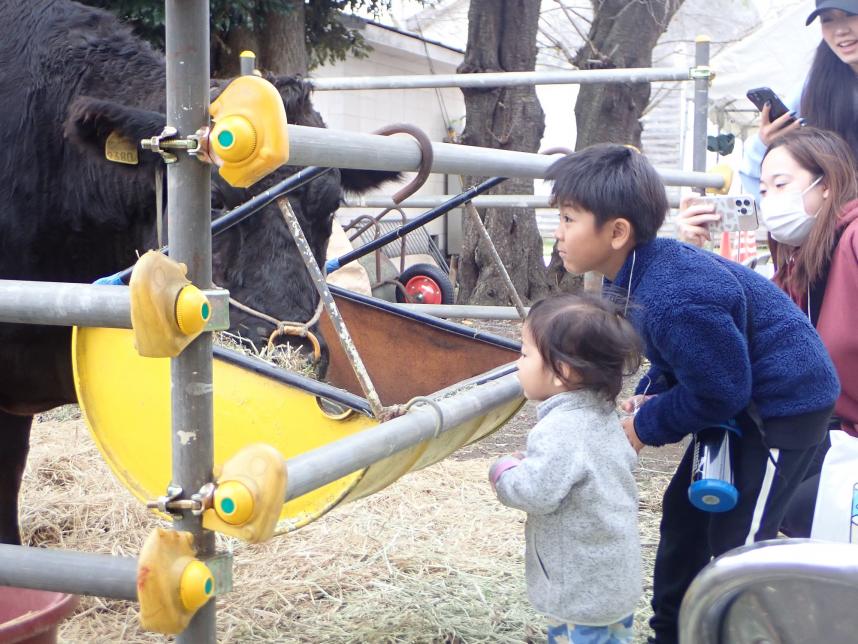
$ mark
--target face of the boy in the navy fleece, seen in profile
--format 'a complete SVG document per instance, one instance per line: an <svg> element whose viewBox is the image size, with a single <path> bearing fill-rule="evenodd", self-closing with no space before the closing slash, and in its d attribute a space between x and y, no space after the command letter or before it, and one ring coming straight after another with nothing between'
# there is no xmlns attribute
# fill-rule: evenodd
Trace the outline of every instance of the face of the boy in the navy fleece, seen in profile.
<svg viewBox="0 0 858 644"><path fill-rule="evenodd" d="M576 274L596 271L613 279L625 261L625 254L620 257L618 251L627 239L618 238L618 222L623 222L621 228L628 224L625 219L611 219L600 228L590 211L562 204L554 238L566 270Z"/></svg>

